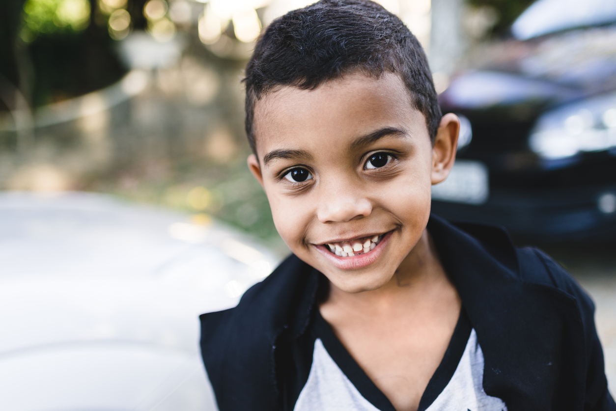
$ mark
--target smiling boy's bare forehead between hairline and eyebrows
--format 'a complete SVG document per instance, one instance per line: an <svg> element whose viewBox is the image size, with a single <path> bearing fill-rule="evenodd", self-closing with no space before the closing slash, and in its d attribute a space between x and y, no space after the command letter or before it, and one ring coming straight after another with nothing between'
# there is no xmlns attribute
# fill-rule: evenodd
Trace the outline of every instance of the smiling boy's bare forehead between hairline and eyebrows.
<svg viewBox="0 0 616 411"><path fill-rule="evenodd" d="M312 90L284 86L265 94L256 102L253 124L261 157L271 149L265 146L284 145L297 136L309 144L306 139L316 142L323 134L336 138L383 126L402 128L412 118L428 132L398 75L352 73Z"/></svg>

